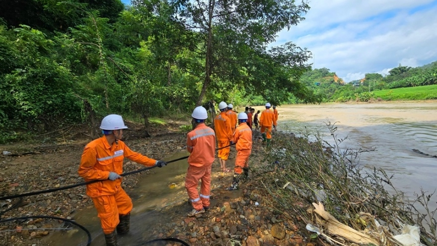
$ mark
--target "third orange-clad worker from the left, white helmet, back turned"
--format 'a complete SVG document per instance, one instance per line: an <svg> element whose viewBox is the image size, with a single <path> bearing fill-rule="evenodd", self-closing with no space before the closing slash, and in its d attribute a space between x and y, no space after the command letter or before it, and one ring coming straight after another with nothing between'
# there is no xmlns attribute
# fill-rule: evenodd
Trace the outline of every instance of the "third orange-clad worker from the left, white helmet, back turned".
<svg viewBox="0 0 437 246"><path fill-rule="evenodd" d="M231 172L226 168L226 161L229 157L230 142L232 141L232 129L231 120L226 115L227 104L220 102L218 109L220 113L214 119L214 127L216 128L216 137L218 141L218 160L220 161L220 167L223 172ZM223 148L229 146L227 148ZM222 149L220 149L222 148Z"/></svg>

